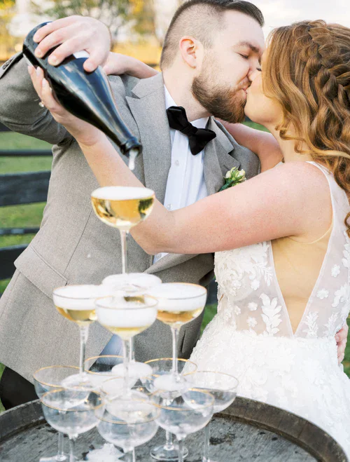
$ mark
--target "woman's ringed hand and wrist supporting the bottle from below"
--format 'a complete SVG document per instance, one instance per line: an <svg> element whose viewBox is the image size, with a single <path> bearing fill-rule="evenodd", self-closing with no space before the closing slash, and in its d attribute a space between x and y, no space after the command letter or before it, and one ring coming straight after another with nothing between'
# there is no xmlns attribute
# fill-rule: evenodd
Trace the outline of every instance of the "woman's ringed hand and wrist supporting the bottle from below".
<svg viewBox="0 0 350 462"><path fill-rule="evenodd" d="M73 116L69 111L66 111L52 95L50 84L43 76L43 69L33 66L28 66L28 72L33 82L33 86L38 93L38 97L43 102L44 106L50 111L55 121L64 125L64 127L73 135L76 141L80 144L96 144L105 135L95 128L90 123L82 121L80 118Z"/></svg>

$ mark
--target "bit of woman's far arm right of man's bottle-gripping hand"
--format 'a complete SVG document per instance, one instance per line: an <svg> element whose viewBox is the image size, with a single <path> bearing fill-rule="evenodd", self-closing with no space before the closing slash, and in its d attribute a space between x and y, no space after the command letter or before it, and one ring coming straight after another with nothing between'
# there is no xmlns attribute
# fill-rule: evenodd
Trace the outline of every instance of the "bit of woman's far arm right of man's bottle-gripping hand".
<svg viewBox="0 0 350 462"><path fill-rule="evenodd" d="M121 53L112 53L111 51L103 69L107 75L128 74L138 79L147 79L158 74L155 69L134 57L122 55Z"/></svg>

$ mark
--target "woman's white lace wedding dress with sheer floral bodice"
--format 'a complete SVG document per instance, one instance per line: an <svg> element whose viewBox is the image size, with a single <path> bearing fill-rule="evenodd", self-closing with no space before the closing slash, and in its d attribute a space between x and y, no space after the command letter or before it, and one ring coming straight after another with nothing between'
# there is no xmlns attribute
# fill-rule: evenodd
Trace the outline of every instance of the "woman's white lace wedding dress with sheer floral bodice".
<svg viewBox="0 0 350 462"><path fill-rule="evenodd" d="M330 433L350 458L350 380L335 334L349 314L346 193L328 178L333 227L321 271L296 332L274 268L271 242L216 253L218 314L190 360L239 379L238 394L298 414ZM297 287L295 287L297 290Z"/></svg>

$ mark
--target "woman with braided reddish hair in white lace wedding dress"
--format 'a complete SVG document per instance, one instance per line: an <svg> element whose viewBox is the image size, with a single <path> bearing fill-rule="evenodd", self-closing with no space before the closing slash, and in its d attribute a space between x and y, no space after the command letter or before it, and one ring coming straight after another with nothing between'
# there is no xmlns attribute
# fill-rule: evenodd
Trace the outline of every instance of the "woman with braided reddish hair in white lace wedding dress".
<svg viewBox="0 0 350 462"><path fill-rule="evenodd" d="M143 186L104 134L30 74L102 186ZM190 359L237 376L239 395L316 423L350 456L350 381L335 343L350 309L350 29L275 29L247 93L246 115L269 129L283 163L266 156L257 177L185 209L156 201L132 236L149 254L216 252L218 314Z"/></svg>

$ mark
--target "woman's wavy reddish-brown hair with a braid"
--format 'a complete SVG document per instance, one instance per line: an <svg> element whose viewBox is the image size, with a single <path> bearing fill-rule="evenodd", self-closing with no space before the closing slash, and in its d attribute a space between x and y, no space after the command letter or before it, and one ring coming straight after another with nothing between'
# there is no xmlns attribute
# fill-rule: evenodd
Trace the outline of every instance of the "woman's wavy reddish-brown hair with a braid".
<svg viewBox="0 0 350 462"><path fill-rule="evenodd" d="M350 198L350 29L321 20L275 29L263 86L283 109L281 138L324 163Z"/></svg>

